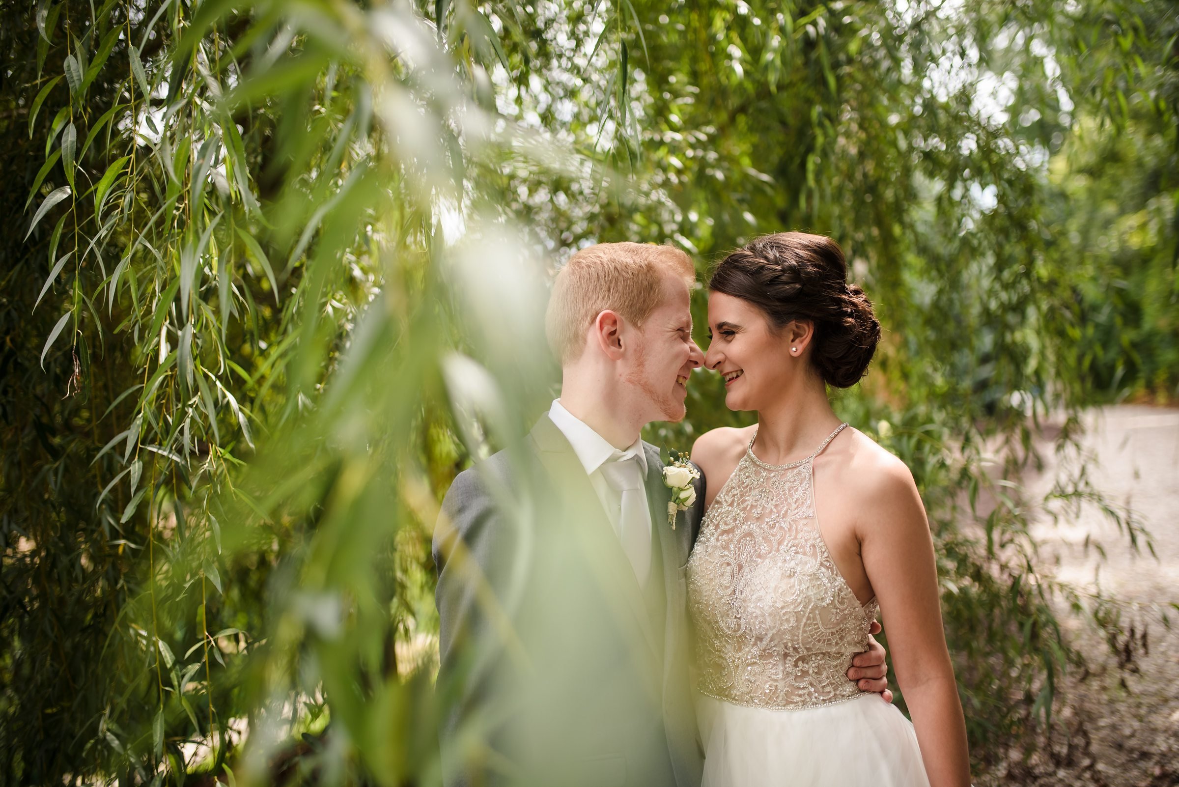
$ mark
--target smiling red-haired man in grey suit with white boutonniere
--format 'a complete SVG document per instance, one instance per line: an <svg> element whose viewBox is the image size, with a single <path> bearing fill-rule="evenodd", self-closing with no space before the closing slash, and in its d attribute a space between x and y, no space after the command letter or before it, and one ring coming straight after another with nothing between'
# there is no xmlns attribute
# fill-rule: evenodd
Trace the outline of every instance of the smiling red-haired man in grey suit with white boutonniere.
<svg viewBox="0 0 1179 787"><path fill-rule="evenodd" d="M561 397L519 444L455 478L434 536L448 785L699 787L689 554L659 450L703 362L696 271L671 246L599 244L558 273ZM883 649L849 679L885 690Z"/></svg>

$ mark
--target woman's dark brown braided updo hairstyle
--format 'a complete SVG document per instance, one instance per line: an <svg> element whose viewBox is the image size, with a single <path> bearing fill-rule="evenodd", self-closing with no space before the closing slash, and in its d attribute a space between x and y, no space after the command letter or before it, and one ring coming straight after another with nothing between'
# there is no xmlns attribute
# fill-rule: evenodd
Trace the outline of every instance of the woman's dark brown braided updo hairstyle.
<svg viewBox="0 0 1179 787"><path fill-rule="evenodd" d="M864 291L847 282L848 263L835 240L778 232L725 257L709 289L753 304L775 331L812 320L811 363L829 385L851 388L868 371L881 324Z"/></svg>

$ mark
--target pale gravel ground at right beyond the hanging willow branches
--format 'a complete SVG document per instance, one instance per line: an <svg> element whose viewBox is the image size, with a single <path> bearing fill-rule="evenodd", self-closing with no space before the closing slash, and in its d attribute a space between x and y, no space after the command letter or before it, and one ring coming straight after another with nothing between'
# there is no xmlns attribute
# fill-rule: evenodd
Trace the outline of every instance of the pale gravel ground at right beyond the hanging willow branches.
<svg viewBox="0 0 1179 787"><path fill-rule="evenodd" d="M1036 525L1043 560L1058 577L1126 602L1122 621L1127 630L1134 624L1135 642L1133 659L1120 666L1126 659L1111 654L1100 634L1061 610L1088 664L1059 686L1060 723L1049 749L1026 763L1013 756L1001 783L1177 787L1179 610L1170 603L1179 601L1179 409L1111 406L1089 412L1087 426L1094 485L1140 517L1158 557L1145 545L1135 551L1093 507ZM1060 469L1047 444L1043 456L1048 467L1026 478L1033 492L1049 489ZM1170 611L1170 629L1162 611Z"/></svg>

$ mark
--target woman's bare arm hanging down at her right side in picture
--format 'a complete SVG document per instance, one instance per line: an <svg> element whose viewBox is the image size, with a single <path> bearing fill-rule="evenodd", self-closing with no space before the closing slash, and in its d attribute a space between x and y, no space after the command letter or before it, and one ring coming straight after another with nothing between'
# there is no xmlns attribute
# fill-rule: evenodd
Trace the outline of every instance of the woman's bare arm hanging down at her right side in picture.
<svg viewBox="0 0 1179 787"><path fill-rule="evenodd" d="M896 680L913 715L931 787L969 787L966 722L946 648L934 543L913 475L895 457L865 489L864 570L888 626ZM865 480L867 481L867 480Z"/></svg>

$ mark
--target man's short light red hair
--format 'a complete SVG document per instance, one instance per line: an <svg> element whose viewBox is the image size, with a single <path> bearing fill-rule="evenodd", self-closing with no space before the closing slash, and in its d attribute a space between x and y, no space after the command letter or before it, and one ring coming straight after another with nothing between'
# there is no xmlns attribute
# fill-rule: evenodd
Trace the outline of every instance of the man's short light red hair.
<svg viewBox="0 0 1179 787"><path fill-rule="evenodd" d="M674 246L650 243L599 243L569 258L556 273L545 328L561 363L581 355L586 331L610 310L635 325L659 305L666 273L696 280L692 258Z"/></svg>

